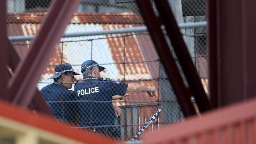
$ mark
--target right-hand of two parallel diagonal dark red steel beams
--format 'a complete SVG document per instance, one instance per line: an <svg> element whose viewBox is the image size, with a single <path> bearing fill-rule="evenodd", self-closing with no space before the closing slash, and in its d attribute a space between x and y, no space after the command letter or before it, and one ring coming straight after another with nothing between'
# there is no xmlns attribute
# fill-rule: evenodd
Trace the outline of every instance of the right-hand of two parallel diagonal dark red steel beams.
<svg viewBox="0 0 256 144"><path fill-rule="evenodd" d="M200 111L212 109L168 1L156 0L155 4Z"/></svg>

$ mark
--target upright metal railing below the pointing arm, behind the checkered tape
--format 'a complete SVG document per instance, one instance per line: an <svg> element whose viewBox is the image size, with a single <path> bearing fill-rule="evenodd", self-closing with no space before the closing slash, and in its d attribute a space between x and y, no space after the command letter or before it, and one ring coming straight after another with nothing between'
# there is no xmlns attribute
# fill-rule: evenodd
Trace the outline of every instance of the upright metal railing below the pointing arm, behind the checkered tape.
<svg viewBox="0 0 256 144"><path fill-rule="evenodd" d="M120 106L122 114L115 118L115 125L120 128L121 140L131 140L160 107L161 102ZM161 122L160 114L137 140L140 140L147 132L158 131Z"/></svg>

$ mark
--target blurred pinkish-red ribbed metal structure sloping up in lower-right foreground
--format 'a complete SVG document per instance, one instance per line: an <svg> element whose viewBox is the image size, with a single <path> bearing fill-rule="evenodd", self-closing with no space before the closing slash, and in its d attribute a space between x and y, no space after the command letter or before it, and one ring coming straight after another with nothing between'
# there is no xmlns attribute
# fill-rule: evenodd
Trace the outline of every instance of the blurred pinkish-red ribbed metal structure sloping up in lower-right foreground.
<svg viewBox="0 0 256 144"><path fill-rule="evenodd" d="M255 144L256 99L193 116L143 138L143 144Z"/></svg>

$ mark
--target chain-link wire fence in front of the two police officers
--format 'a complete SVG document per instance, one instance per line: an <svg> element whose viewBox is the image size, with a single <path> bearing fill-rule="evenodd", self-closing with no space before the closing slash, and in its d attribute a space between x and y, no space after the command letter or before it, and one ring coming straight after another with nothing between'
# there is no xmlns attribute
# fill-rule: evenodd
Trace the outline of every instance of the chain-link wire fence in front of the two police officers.
<svg viewBox="0 0 256 144"><path fill-rule="evenodd" d="M181 12L183 22L206 20L205 0L177 2L181 9L174 13ZM8 35L35 35L50 3L51 0L7 0ZM83 0L77 12L65 33L145 26L133 0ZM208 92L206 29L187 28L182 34ZM30 43L12 42L20 57L26 54ZM100 66L106 69L101 71ZM163 111L137 140L147 132L184 119L147 32L62 38L37 87L56 118L68 122L70 127L121 140L132 139L162 105ZM150 97L145 91L158 96Z"/></svg>

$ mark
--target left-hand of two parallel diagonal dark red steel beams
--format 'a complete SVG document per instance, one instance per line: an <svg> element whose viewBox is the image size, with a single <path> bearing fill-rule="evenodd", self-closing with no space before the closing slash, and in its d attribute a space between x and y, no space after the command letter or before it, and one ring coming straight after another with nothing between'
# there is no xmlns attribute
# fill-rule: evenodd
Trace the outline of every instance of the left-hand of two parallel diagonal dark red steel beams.
<svg viewBox="0 0 256 144"><path fill-rule="evenodd" d="M161 63L165 68L165 72L171 82L184 116L195 114L195 110L190 101L191 93L183 83L182 77L175 64L167 41L165 40L163 32L160 29L161 24L158 20L156 20L157 17L154 14L149 0L136 0L136 2L137 6L141 10L141 14L152 37L152 41L156 46L156 51L158 52Z"/></svg>

